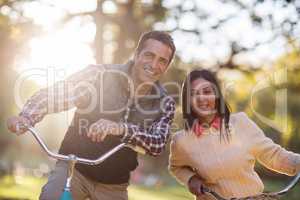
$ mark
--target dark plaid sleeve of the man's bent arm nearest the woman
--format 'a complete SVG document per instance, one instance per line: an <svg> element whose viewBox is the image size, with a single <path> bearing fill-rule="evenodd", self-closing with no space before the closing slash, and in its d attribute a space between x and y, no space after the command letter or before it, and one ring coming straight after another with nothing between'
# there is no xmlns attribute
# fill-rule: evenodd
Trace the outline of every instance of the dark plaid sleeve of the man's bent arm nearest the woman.
<svg viewBox="0 0 300 200"><path fill-rule="evenodd" d="M125 124L126 131L122 140L133 146L139 146L149 155L158 156L165 148L170 136L170 126L175 114L175 101L167 97L162 116L155 120L149 129L143 129L134 124Z"/></svg>

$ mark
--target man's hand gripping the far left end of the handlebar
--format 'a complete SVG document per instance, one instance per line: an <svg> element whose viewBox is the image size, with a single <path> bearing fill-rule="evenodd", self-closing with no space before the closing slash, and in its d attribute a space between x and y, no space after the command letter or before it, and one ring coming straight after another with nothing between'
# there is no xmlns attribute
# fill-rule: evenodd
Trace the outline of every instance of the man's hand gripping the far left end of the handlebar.
<svg viewBox="0 0 300 200"><path fill-rule="evenodd" d="M21 135L27 131L30 122L27 118L21 116L13 116L7 120L7 128L17 135Z"/></svg>

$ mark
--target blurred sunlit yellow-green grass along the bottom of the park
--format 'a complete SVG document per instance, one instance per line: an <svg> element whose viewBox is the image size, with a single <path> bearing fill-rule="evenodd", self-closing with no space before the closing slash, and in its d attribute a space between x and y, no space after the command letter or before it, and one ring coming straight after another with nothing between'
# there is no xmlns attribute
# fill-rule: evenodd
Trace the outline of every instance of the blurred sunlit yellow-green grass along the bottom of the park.
<svg viewBox="0 0 300 200"><path fill-rule="evenodd" d="M6 176L0 180L0 199L38 199L40 189L46 179L34 177L11 177ZM285 183L280 181L265 181L266 190L276 191L282 188ZM300 187L296 186L284 200L298 200ZM179 185L163 187L145 187L131 185L129 187L130 200L192 200L194 199L188 191Z"/></svg>

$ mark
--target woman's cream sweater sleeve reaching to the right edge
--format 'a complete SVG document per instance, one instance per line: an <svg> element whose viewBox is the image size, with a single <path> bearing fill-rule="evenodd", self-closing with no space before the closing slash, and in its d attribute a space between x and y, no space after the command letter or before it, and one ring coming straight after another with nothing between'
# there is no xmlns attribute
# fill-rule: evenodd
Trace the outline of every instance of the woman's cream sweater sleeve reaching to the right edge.
<svg viewBox="0 0 300 200"><path fill-rule="evenodd" d="M264 132L243 113L243 125L250 131L251 150L265 167L278 173L294 176L300 172L300 155L287 151L266 137Z"/></svg>

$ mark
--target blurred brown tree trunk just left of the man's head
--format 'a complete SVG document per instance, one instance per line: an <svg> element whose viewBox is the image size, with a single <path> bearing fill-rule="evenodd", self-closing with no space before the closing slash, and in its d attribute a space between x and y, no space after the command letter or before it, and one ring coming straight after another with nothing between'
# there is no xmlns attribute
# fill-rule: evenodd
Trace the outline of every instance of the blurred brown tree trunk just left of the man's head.
<svg viewBox="0 0 300 200"><path fill-rule="evenodd" d="M154 22L164 18L165 12L161 1L142 3L138 0L97 0L96 10L69 13L64 22L74 17L91 16L96 25L93 44L96 62L122 63L130 57L141 33L151 30ZM113 50L107 52L108 49ZM105 60L104 57L111 59Z"/></svg>

